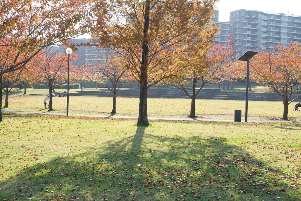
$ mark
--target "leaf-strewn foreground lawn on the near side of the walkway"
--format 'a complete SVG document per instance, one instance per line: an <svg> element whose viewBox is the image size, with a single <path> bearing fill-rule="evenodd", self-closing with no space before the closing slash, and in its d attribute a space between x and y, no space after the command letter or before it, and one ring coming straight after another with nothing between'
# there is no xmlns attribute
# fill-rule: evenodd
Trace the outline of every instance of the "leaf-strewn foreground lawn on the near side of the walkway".
<svg viewBox="0 0 301 201"><path fill-rule="evenodd" d="M298 123L4 117L0 200L301 199Z"/></svg>

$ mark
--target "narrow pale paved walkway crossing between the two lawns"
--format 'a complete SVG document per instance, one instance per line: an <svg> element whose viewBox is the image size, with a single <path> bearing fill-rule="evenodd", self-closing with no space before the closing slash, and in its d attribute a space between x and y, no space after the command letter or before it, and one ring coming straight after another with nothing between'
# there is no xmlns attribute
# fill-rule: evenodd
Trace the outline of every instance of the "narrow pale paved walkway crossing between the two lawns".
<svg viewBox="0 0 301 201"><path fill-rule="evenodd" d="M64 115L66 113L56 113L56 112L34 112L34 111L17 111L17 110L3 110L2 112L13 112L13 113L23 113L23 114L41 114L41 115ZM81 117L104 117L104 118L125 118L125 119L138 119L138 117L131 116L115 116L115 115L85 115L85 114L70 114L70 116L81 116ZM148 117L148 119L160 119L160 120L195 120L195 121L234 121L234 120L224 120L224 119L210 119L210 118L170 118L170 117ZM274 123L293 123L301 121L248 121L248 122L274 122Z"/></svg>

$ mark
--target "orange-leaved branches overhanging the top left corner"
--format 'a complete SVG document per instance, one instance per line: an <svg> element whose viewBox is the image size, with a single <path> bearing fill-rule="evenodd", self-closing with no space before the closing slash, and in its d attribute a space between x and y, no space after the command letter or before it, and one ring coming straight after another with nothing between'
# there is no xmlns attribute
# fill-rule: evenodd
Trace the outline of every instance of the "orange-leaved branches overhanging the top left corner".
<svg viewBox="0 0 301 201"><path fill-rule="evenodd" d="M86 17L101 2L93 6L89 4L90 0L0 1L1 51L17 50L12 60L1 64L6 68L0 69L0 76L25 68L45 47L67 44L68 39L86 33Z"/></svg>

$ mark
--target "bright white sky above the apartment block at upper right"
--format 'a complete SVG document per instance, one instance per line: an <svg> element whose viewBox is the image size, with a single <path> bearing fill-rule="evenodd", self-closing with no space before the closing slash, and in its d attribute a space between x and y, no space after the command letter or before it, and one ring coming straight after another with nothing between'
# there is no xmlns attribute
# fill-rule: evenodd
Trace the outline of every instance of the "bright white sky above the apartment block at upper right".
<svg viewBox="0 0 301 201"><path fill-rule="evenodd" d="M301 0L219 0L219 21L229 21L230 11L239 9L301 15Z"/></svg>

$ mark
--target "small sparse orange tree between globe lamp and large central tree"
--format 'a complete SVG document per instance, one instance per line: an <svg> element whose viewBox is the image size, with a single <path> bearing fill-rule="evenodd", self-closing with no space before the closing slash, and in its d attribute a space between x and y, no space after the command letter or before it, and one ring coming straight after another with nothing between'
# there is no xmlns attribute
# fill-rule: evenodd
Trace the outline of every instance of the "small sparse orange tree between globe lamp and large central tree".
<svg viewBox="0 0 301 201"><path fill-rule="evenodd" d="M123 84L134 81L134 77L125 68L123 60L114 52L109 52L102 60L92 60L88 63L89 70L87 78L94 82L99 88L107 88L113 93L113 109L111 114L116 113L116 93ZM112 87L107 86L107 82ZM103 84L105 83L105 86Z"/></svg>

